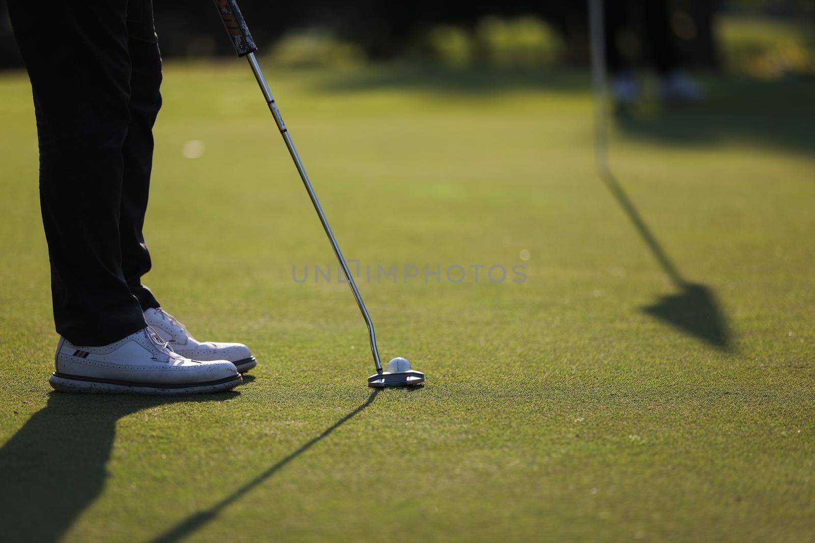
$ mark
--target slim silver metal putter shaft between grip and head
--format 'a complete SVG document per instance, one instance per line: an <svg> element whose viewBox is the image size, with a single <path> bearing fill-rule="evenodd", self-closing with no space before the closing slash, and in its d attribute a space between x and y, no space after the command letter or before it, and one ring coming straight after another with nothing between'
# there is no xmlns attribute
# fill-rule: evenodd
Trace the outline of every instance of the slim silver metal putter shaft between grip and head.
<svg viewBox="0 0 815 543"><path fill-rule="evenodd" d="M311 187L311 182L308 180L308 176L306 175L306 169L303 168L303 164L300 161L300 156L297 155L297 149L294 148L292 138L289 136L289 130L286 129L286 125L283 122L283 118L280 116L280 111L278 111L277 106L275 105L275 99L272 98L271 96L271 90L269 90L269 85L267 85L266 78L263 77L263 72L261 72L260 66L258 65L258 59L255 59L255 55L253 52L245 56L246 59L249 61L249 67L252 68L252 73L254 74L255 79L258 80L258 85L260 86L260 90L263 93L263 98L266 99L266 103L269 106L271 115L275 118L277 128L280 130L280 135L283 136L283 141L286 143L286 147L289 149L289 154L292 155L294 165L297 167L297 173L300 174L300 178L303 181L303 185L306 186L309 198L311 198L311 204L314 204L314 208L315 211L317 212L317 216L319 217L319 221L323 224L323 230L325 230L325 234L328 236L328 241L331 242L331 247L334 250L334 254L337 256L337 261L340 263L340 266L342 267L342 273L345 274L346 279L348 280L348 285L351 287L351 291L354 293L354 298L357 301L357 305L359 306L359 312L362 313L362 317L365 319L365 324L368 326L368 339L370 339L371 341L371 353L373 355L374 364L375 366L377 366L377 374L381 374L382 363L379 360L379 351L377 351L377 338L373 333L373 323L371 322L371 317L368 316L368 309L365 309L365 304L362 301L362 296L359 296L359 290L357 290L356 283L354 282L354 277L351 275L350 270L348 269L346 259L344 256L342 256L340 246L337 245L337 239L334 239L334 234L331 231L331 226L328 226L328 221L326 221L325 219L323 208L321 208L319 205L317 195L315 195L314 189Z"/></svg>

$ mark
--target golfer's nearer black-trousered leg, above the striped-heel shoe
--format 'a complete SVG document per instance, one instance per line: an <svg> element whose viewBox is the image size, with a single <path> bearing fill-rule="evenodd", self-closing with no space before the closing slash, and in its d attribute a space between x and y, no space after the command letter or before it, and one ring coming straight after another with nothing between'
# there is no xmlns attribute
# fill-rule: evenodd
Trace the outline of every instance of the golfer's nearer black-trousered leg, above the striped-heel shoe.
<svg viewBox="0 0 815 543"><path fill-rule="evenodd" d="M9 2L29 71L56 331L104 345L143 328L121 271L119 212L130 112L126 0Z"/></svg>

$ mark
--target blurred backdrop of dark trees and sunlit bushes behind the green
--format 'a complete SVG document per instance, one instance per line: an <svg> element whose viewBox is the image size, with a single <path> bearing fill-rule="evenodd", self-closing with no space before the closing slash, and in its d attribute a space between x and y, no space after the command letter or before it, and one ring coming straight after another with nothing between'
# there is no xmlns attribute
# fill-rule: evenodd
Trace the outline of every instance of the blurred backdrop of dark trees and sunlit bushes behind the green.
<svg viewBox="0 0 815 543"><path fill-rule="evenodd" d="M6 2L0 0L3 8ZM210 3L154 2L165 59L232 54ZM759 78L815 73L815 0L671 4L674 38L689 66ZM240 6L262 54L293 67L393 59L453 68L536 69L588 62L585 2L416 0L402 5L373 0L242 0ZM636 56L636 42L630 49ZM21 65L7 11L2 9L0 68Z"/></svg>

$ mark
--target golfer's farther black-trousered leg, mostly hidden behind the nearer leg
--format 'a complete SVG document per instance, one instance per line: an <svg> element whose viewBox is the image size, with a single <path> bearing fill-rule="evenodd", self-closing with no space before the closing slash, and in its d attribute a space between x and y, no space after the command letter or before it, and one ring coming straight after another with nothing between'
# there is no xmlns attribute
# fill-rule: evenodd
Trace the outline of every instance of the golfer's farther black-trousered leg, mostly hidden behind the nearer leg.
<svg viewBox="0 0 815 543"><path fill-rule="evenodd" d="M130 126L122 148L121 269L143 310L159 303L141 278L150 270L150 253L142 228L148 206L152 169L152 127L161 107L161 54L153 26L152 0L130 0L127 6L130 74Z"/></svg>

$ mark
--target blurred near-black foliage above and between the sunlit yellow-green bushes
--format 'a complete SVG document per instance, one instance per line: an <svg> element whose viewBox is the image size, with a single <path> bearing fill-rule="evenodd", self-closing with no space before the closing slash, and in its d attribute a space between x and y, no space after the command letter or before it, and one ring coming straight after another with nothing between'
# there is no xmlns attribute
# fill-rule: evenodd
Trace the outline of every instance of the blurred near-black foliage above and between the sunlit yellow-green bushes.
<svg viewBox="0 0 815 543"><path fill-rule="evenodd" d="M31 1L31 0L15 0ZM0 68L21 65L5 4L0 0ZM438 24L473 28L489 15L534 15L561 34L566 47L563 61L584 63L587 16L585 2L382 2L381 0L300 0L267 2L242 0L250 28L259 45L268 50L278 38L297 29L319 28L360 46L368 59L394 59L421 55L421 38ZM209 0L157 0L156 29L165 58L230 55L229 42ZM763 15L812 16L815 0L672 0L672 11L694 22L693 37L679 40L688 63L715 68L718 64L712 20L716 12L739 10Z"/></svg>

